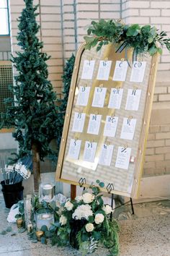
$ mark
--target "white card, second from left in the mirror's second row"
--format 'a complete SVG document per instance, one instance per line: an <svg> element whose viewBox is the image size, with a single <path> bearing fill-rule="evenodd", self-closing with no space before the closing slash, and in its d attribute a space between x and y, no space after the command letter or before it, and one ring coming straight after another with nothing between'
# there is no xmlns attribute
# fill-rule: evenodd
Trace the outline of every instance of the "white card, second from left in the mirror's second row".
<svg viewBox="0 0 170 256"><path fill-rule="evenodd" d="M107 92L107 88L96 87L94 90L94 98L91 106L102 108L104 106L106 92Z"/></svg>

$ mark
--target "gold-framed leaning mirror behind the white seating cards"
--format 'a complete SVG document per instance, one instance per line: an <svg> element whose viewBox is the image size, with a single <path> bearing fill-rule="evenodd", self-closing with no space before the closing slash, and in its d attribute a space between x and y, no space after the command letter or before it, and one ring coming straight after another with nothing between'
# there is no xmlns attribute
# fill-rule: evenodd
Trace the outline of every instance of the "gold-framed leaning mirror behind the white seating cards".
<svg viewBox="0 0 170 256"><path fill-rule="evenodd" d="M66 109L66 117L63 126L63 135L61 139L61 148L58 156L58 164L56 168L56 180L66 182L73 185L79 185L79 180L82 178L86 180L84 187L89 187L90 184L95 184L99 179L104 182L103 192L108 192L108 185L112 184L112 191L116 195L127 197L138 197L138 187L140 183L140 176L143 169L143 161L146 148L146 140L148 135L148 127L151 116L151 107L153 101L154 85L156 82L156 71L158 67L158 54L149 56L148 54L140 54L138 61L146 61L146 70L143 77L143 82L130 82L131 67L128 67L128 72L125 81L113 81L112 77L115 71L116 61L128 61L128 65L133 64L133 49L128 51L116 52L116 46L109 44L102 47L102 50L97 52L96 48L91 51L85 50L85 44L82 44L76 55L73 75L71 80L71 88L68 97L68 106ZM91 80L82 80L81 73L85 60L95 60L94 75ZM97 80L97 71L99 69L99 61L112 61L112 66L109 72L108 80ZM89 101L86 106L77 106L76 100L80 86L90 87ZM107 88L104 106L96 108L91 106L94 97L94 89L97 87ZM122 104L120 109L108 108L109 95L112 88L123 88L124 95L122 97ZM125 103L127 100L129 89L140 89L140 105L138 111L125 110ZM83 112L86 114L83 132L73 132L71 127L73 125L73 116L75 112ZM98 135L87 134L87 126L89 124L90 114L100 114L102 116L101 126ZM106 137L103 135L104 123L106 116L119 116L119 123L117 125L117 135L115 137ZM131 116L137 120L135 135L133 140L122 140L120 132L122 127L122 120L124 116ZM79 159L71 159L68 157L68 148L71 139L81 140L81 150ZM88 163L83 160L84 145L86 141L97 142L97 151L94 163ZM99 165L99 153L103 143L114 145L114 152L110 166ZM132 149L132 159L128 169L115 168L115 161L117 157L117 148L119 146L130 147Z"/></svg>

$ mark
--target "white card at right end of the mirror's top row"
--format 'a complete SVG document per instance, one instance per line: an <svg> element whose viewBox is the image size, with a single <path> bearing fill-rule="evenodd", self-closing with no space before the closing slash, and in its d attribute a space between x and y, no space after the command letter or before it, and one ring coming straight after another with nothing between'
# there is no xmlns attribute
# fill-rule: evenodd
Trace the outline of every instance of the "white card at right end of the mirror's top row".
<svg viewBox="0 0 170 256"><path fill-rule="evenodd" d="M133 69L130 75L130 82L143 82L146 70L146 61L134 61Z"/></svg>

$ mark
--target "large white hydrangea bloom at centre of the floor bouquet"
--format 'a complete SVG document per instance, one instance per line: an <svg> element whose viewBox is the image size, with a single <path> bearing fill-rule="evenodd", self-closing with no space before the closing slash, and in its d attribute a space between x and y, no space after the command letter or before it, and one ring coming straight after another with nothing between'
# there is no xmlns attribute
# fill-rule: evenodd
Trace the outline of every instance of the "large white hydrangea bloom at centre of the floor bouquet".
<svg viewBox="0 0 170 256"><path fill-rule="evenodd" d="M86 218L86 220L88 221L89 216L93 216L93 212L91 210L90 205L79 205L72 214L72 218L75 218L76 220Z"/></svg>

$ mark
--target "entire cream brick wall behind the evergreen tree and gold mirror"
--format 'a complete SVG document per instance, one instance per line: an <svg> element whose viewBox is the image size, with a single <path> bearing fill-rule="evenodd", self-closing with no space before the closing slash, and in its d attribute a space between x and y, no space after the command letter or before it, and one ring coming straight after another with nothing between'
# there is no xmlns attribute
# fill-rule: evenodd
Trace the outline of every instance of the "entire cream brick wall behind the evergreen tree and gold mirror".
<svg viewBox="0 0 170 256"><path fill-rule="evenodd" d="M91 20L122 19L127 23L156 25L170 35L170 1L149 0L35 0L40 4L43 51L50 54L49 79L62 90L63 63L84 41ZM12 51L17 47L17 17L23 0L10 0ZM170 54L164 48L158 66L144 176L170 174Z"/></svg>

